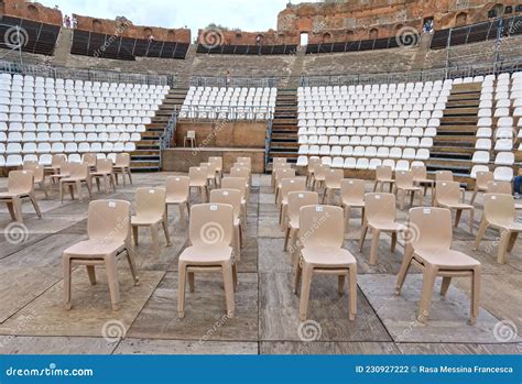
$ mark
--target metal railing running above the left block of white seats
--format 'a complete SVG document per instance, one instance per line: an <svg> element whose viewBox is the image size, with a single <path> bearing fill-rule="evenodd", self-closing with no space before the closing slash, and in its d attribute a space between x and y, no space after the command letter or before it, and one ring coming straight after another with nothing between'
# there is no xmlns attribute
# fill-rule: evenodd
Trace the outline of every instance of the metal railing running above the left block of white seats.
<svg viewBox="0 0 522 384"><path fill-rule="evenodd" d="M117 70L67 68L59 66L20 64L7 61L0 61L0 73L67 78L73 80L168 85L171 87L175 86L175 77L173 75L149 75L121 73Z"/></svg>

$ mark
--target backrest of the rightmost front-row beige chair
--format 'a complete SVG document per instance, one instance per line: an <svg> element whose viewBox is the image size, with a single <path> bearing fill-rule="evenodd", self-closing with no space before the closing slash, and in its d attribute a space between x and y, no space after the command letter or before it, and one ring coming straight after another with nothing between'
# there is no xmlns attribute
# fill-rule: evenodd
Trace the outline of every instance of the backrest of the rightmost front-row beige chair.
<svg viewBox="0 0 522 384"><path fill-rule="evenodd" d="M452 246L452 212L446 208L412 208L405 238L414 250L448 250Z"/></svg>

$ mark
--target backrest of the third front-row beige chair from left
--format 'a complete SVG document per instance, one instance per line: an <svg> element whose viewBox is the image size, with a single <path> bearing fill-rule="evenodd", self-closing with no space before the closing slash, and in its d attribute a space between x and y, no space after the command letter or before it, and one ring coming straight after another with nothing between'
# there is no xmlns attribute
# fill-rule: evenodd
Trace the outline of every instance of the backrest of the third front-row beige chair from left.
<svg viewBox="0 0 522 384"><path fill-rule="evenodd" d="M301 207L298 235L304 248L341 248L345 241L342 208L318 205Z"/></svg>

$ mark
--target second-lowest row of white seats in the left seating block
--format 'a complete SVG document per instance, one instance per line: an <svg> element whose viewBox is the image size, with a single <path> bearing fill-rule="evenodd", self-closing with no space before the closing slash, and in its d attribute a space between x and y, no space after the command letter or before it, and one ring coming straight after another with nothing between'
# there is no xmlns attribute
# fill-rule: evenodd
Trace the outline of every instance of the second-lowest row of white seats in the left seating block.
<svg viewBox="0 0 522 384"><path fill-rule="evenodd" d="M6 149L0 143L0 154L42 154L42 153L88 153L88 152L123 152L135 151L134 142L104 143L9 143ZM1 150L4 150L3 152Z"/></svg>

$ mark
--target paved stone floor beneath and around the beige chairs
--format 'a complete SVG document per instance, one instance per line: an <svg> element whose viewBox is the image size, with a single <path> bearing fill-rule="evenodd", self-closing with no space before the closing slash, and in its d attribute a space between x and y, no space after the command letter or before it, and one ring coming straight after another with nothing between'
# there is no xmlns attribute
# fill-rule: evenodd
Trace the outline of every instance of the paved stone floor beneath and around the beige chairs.
<svg viewBox="0 0 522 384"><path fill-rule="evenodd" d="M119 186L110 198L134 200L139 186L161 186L167 176L137 174L134 185ZM453 281L447 297L433 296L427 325L415 320L422 275L413 271L402 296L395 276L403 248L390 252L382 235L378 265L368 263L370 242L359 252L360 215L356 212L345 246L358 261L358 314L348 320L348 297L337 294L333 276L313 281L309 320L298 321L298 296L292 292L292 268L283 252L283 233L270 187L270 176L254 175L248 226L236 293L236 317L225 317L225 295L217 274L197 274L196 290L187 292L186 316L177 318L177 256L187 242L187 223L170 211L172 245L161 238L154 255L150 235L140 233L137 248L141 284L132 285L127 263L119 263L121 309L110 309L102 267L98 284L85 270L73 274L73 309L63 306L62 252L86 238L88 202L61 204L39 193L43 218L23 205L24 224L13 235L4 206L0 207L0 353L520 353L522 339L522 240L508 263L496 261L498 233L488 231L479 251L465 215L454 231L454 248L483 265L481 308L477 325L467 325L469 282ZM7 186L0 179L0 188ZM368 190L371 188L368 183ZM95 194L95 198L106 198ZM468 196L469 199L469 196ZM192 202L197 202L196 194ZM428 197L425 198L428 202ZM481 198L476 202L476 222ZM401 221L406 210L399 211ZM371 234L370 234L371 237ZM439 283L438 283L439 284ZM312 340L312 341L308 341Z"/></svg>

